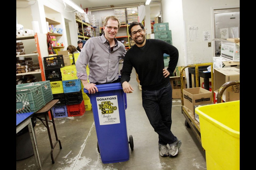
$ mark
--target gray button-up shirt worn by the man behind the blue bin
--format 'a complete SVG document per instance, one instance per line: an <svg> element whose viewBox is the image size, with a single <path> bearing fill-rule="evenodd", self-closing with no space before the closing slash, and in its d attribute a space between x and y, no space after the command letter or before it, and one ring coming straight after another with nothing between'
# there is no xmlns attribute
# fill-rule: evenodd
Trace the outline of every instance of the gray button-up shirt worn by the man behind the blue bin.
<svg viewBox="0 0 256 170"><path fill-rule="evenodd" d="M104 34L100 37L92 37L86 41L75 63L77 77L91 83L111 83L118 79L119 59L125 56L125 46L115 38L115 46L110 51L110 45ZM86 65L90 74L87 76Z"/></svg>

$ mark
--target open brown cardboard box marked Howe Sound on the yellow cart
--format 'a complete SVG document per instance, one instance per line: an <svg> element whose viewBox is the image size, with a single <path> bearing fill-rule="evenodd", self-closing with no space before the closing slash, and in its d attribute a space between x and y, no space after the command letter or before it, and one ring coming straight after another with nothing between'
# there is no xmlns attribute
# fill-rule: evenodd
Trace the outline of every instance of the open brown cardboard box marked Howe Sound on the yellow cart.
<svg viewBox="0 0 256 170"><path fill-rule="evenodd" d="M212 103L212 94L202 87L183 89L184 107L191 113L195 113L194 106Z"/></svg>

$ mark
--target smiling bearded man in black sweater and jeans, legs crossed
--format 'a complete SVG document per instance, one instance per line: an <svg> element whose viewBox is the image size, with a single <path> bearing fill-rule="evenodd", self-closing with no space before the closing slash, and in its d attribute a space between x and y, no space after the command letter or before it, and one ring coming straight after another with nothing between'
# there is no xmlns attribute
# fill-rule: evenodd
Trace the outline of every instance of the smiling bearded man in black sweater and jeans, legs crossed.
<svg viewBox="0 0 256 170"><path fill-rule="evenodd" d="M150 124L158 134L158 148L161 156L176 156L181 141L171 132L172 88L169 75L177 66L177 48L162 40L145 39L144 26L133 22L129 34L135 42L125 54L121 84L125 93L132 93L128 83L133 67L142 88L142 106ZM168 68L164 68L163 54L170 55ZM170 148L167 147L169 144Z"/></svg>

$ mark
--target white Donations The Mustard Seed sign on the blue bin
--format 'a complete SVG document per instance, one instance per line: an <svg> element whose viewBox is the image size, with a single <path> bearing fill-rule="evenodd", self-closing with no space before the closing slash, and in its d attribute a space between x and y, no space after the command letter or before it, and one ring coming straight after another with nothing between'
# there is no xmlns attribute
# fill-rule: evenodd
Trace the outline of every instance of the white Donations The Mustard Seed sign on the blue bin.
<svg viewBox="0 0 256 170"><path fill-rule="evenodd" d="M117 95L96 97L99 125L120 123Z"/></svg>

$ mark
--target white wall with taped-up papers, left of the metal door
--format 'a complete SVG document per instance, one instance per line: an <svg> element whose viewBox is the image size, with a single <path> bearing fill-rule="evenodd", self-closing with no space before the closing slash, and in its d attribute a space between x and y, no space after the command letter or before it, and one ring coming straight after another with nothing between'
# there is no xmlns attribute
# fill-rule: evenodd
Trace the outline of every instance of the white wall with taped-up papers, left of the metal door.
<svg viewBox="0 0 256 170"><path fill-rule="evenodd" d="M169 22L173 45L179 50L178 65L212 62L213 47L203 41L203 31L211 32L211 8L240 5L239 0L162 0L163 22ZM195 29L195 30L192 30Z"/></svg>

